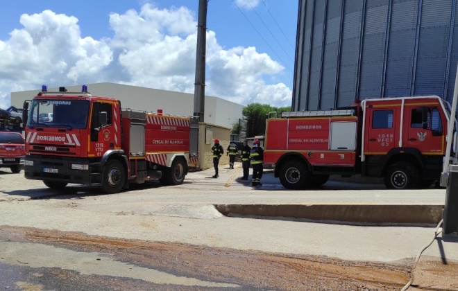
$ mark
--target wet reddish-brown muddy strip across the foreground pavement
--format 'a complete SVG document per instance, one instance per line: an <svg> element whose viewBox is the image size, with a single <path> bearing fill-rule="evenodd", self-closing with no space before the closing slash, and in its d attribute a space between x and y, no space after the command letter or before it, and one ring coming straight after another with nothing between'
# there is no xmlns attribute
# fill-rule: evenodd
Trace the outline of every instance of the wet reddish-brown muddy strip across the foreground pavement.
<svg viewBox="0 0 458 291"><path fill-rule="evenodd" d="M1 227L0 239L44 243L80 252L110 253L119 261L210 281L235 283L244 290L400 290L410 279L413 263L366 263L322 256L282 256L18 227ZM429 268L434 269L434 264ZM424 275L421 274L423 278ZM167 290L170 286L164 288Z"/></svg>

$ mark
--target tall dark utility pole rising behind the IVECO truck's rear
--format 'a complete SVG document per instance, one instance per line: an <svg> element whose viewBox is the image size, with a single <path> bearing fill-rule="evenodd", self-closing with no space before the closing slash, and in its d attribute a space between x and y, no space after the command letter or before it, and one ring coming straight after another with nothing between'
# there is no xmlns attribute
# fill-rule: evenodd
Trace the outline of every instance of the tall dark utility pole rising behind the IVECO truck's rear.
<svg viewBox="0 0 458 291"><path fill-rule="evenodd" d="M208 0L198 1L196 81L194 82L194 116L204 121L205 112L205 46L207 40Z"/></svg>

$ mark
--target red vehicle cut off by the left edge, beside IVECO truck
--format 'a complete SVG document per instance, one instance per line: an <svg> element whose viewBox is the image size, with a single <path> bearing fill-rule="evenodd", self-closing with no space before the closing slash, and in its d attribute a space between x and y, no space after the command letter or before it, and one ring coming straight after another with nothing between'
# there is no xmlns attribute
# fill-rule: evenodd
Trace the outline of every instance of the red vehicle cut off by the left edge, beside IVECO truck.
<svg viewBox="0 0 458 291"><path fill-rule="evenodd" d="M0 132L0 168L10 168L12 173L21 172L24 166L26 145L18 132Z"/></svg>

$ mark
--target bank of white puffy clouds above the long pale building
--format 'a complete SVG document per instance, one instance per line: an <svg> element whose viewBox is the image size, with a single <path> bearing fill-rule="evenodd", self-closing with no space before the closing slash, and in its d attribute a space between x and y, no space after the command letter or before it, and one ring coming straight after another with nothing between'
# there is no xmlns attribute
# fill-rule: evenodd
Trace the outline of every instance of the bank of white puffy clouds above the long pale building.
<svg viewBox="0 0 458 291"><path fill-rule="evenodd" d="M246 1L244 1L246 3ZM250 0L252 6L259 1ZM196 15L185 7L149 3L110 15L113 37L82 37L76 17L44 10L22 15L22 28L0 39L0 107L10 91L91 82L194 92ZM279 82L284 68L255 47L223 49L207 31L205 93L233 102L287 106L291 89Z"/></svg>

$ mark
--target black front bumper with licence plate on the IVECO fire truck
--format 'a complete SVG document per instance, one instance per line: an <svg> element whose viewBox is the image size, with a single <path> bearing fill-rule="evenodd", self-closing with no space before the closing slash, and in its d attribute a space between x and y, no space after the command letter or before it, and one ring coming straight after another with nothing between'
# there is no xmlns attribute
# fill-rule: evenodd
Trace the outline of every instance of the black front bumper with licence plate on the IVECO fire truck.
<svg viewBox="0 0 458 291"><path fill-rule="evenodd" d="M72 167L72 165L86 166ZM75 168L86 168L87 170ZM91 167L87 159L28 155L25 157L24 175L26 179L91 184Z"/></svg>

